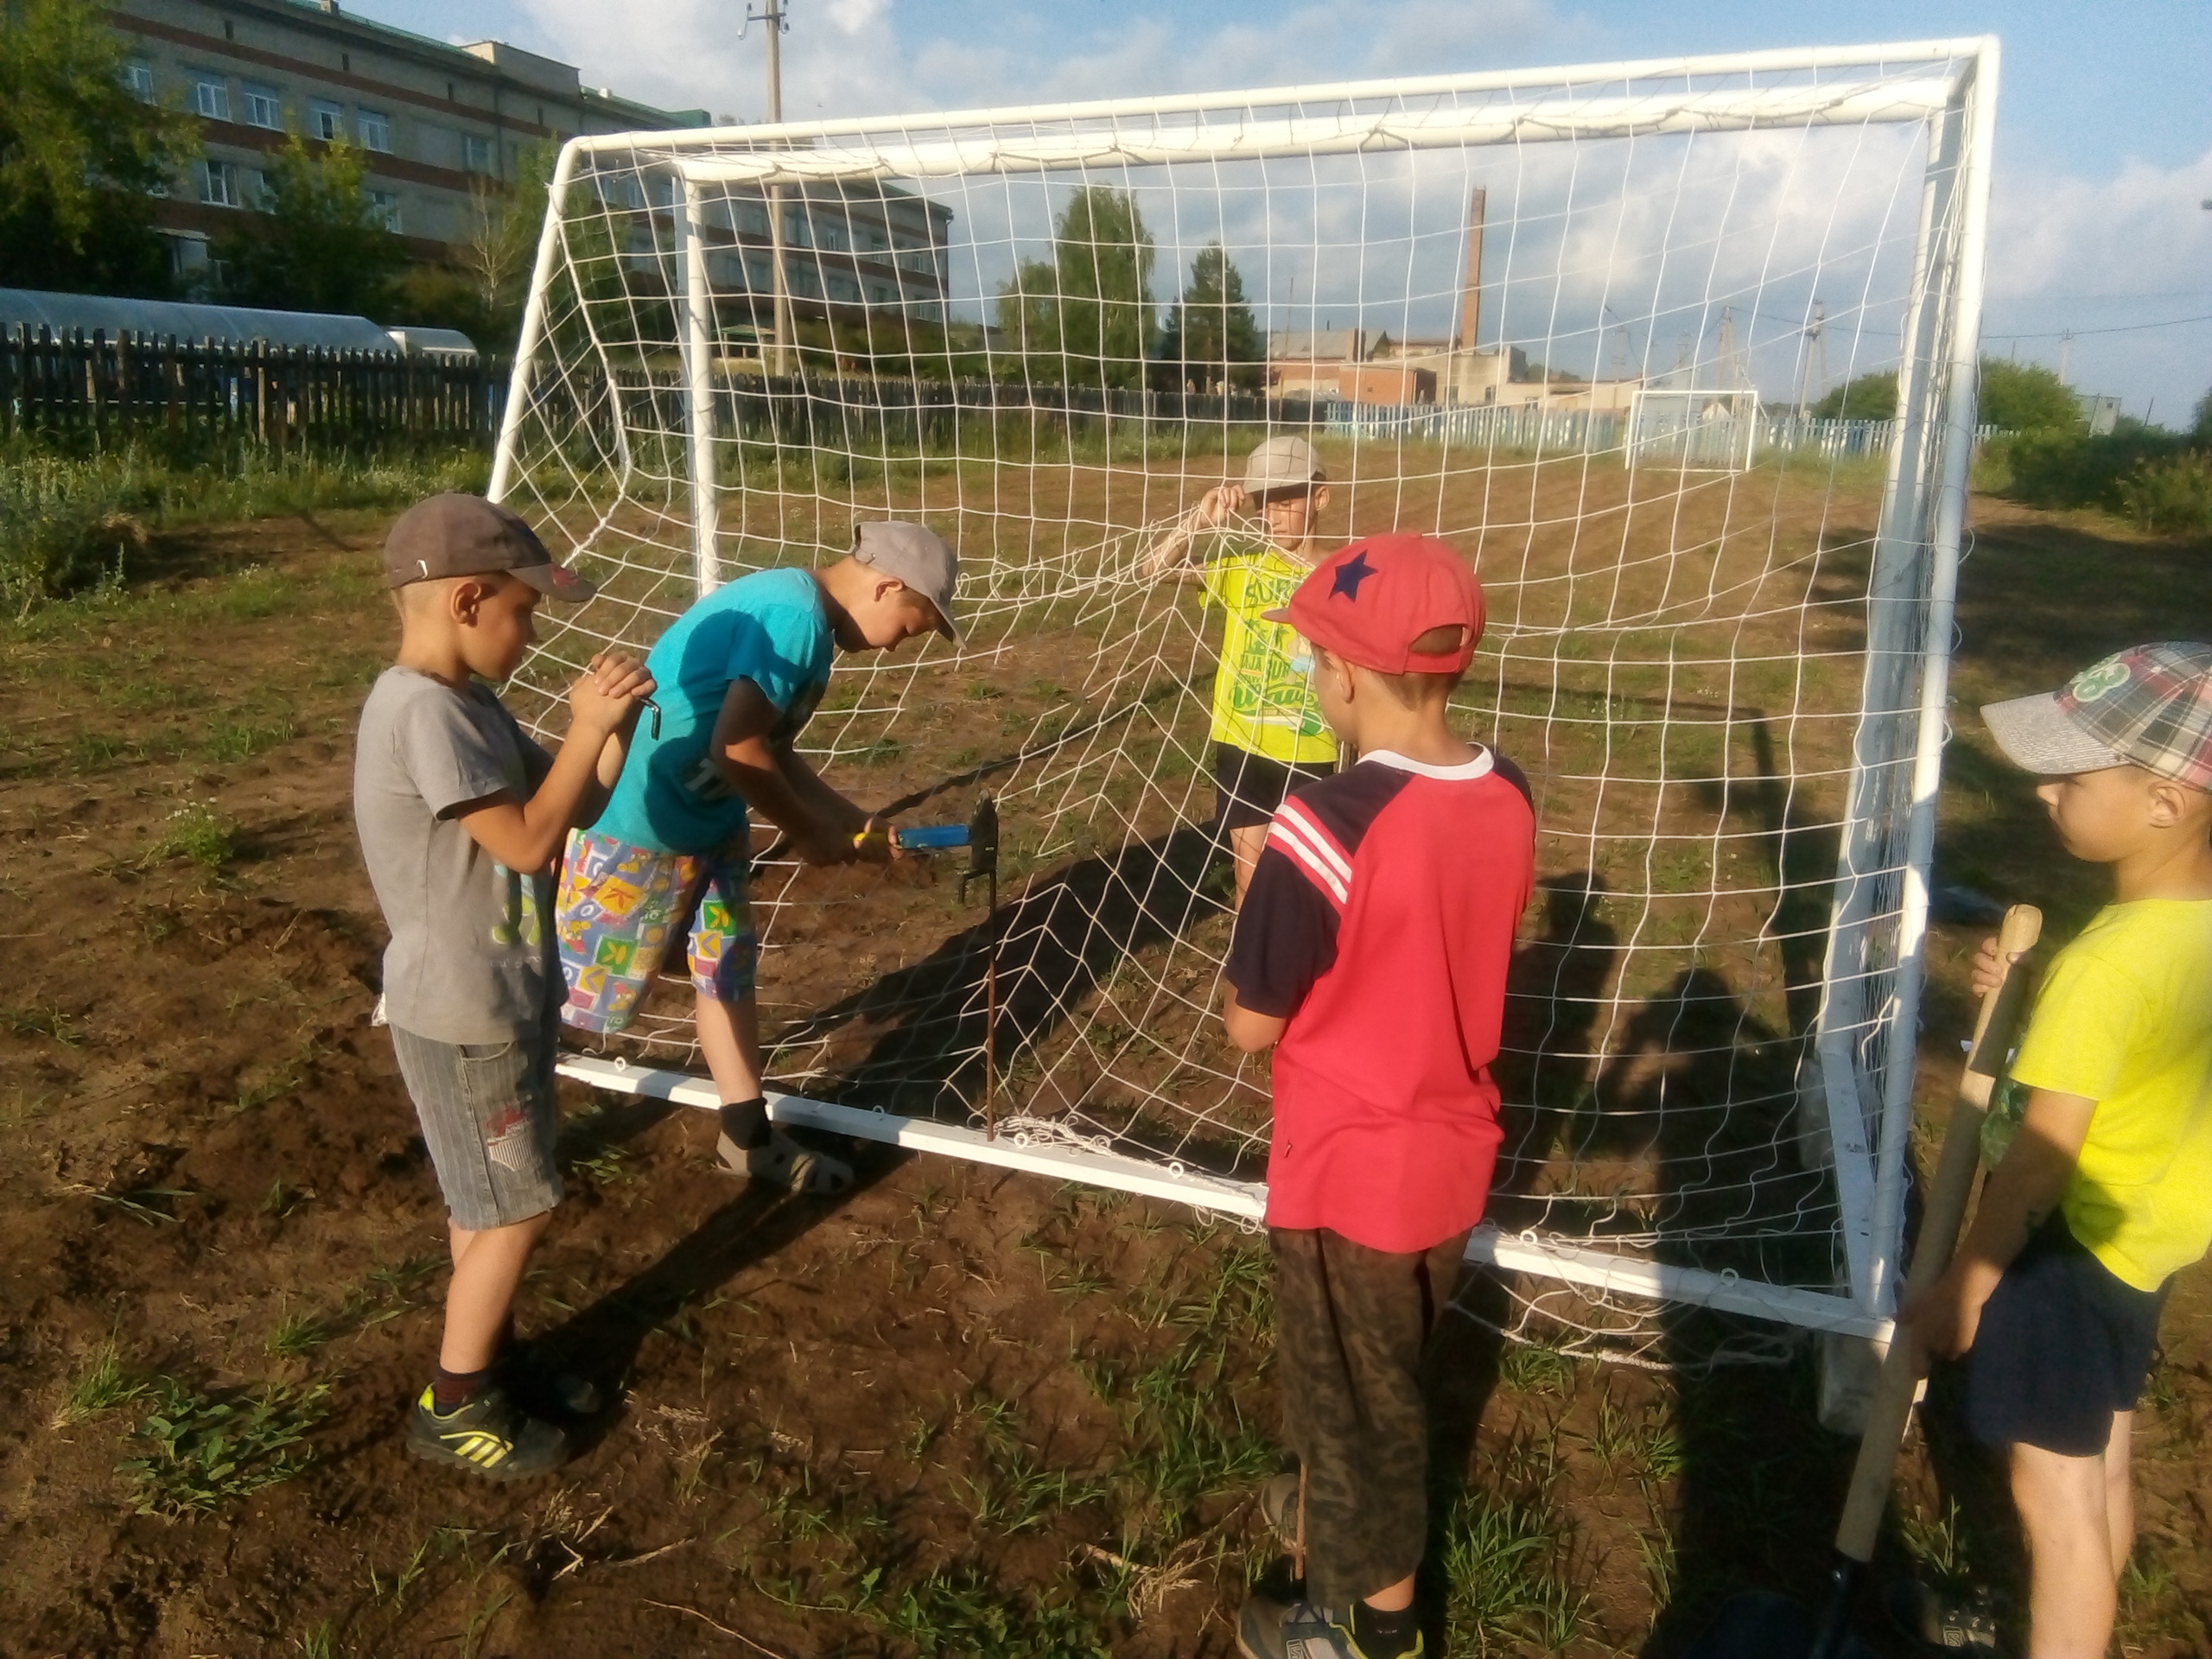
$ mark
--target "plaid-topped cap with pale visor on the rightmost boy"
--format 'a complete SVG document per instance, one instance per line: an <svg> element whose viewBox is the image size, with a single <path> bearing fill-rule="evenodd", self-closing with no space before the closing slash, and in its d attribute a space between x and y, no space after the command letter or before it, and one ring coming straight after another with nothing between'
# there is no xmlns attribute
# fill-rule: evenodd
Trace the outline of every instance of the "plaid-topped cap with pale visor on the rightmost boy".
<svg viewBox="0 0 2212 1659"><path fill-rule="evenodd" d="M2139 765L2212 790L2212 646L2130 646L2084 668L2064 690L1986 703L1982 719L2028 772Z"/></svg>

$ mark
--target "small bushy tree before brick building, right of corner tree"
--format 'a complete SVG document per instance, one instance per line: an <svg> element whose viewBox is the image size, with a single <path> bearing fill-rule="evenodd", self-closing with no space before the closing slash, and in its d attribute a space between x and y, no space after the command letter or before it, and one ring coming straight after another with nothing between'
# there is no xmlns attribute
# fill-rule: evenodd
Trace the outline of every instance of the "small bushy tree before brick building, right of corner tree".
<svg viewBox="0 0 2212 1659"><path fill-rule="evenodd" d="M367 177L367 159L343 137L310 150L292 133L270 157L261 212L217 243L226 294L288 312L387 310L407 250L369 201Z"/></svg>

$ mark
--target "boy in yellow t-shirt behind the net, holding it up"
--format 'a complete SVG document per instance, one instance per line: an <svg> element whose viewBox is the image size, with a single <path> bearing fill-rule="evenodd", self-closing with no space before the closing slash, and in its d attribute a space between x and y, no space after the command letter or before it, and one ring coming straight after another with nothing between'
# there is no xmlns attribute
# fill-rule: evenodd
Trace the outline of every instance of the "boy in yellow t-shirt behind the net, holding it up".
<svg viewBox="0 0 2212 1659"><path fill-rule="evenodd" d="M1327 473L1305 438L1270 438L1252 451L1241 484L1206 491L1146 555L1146 575L1179 575L1206 584L1206 602L1223 611L1221 668L1214 672L1217 827L1237 858L1237 902L1267 841L1276 807L1301 783L1336 770L1336 734L1314 699L1314 664L1298 635L1267 622L1314 568L1321 546L1314 520L1329 504ZM1192 560L1201 531L1217 531L1248 507L1267 524L1256 535L1223 538L1206 560Z"/></svg>

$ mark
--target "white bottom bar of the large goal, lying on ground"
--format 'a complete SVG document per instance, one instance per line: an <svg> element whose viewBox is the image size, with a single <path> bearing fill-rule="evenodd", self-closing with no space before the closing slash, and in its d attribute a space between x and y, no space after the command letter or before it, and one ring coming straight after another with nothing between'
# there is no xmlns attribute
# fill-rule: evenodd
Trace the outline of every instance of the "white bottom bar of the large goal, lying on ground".
<svg viewBox="0 0 2212 1659"><path fill-rule="evenodd" d="M564 1055L560 1075L591 1088L606 1088L617 1095L648 1095L675 1102L677 1106L714 1110L721 1104L714 1086L703 1077L695 1077L688 1071L633 1066L626 1060ZM1022 1133L987 1137L982 1130L958 1124L898 1117L896 1113L838 1106L827 1099L807 1099L805 1095L783 1095L776 1091L768 1091L768 1115L779 1124L852 1135L854 1139L883 1141L885 1146L907 1146L918 1152L940 1152L942 1157L958 1157L969 1164L1048 1175L1060 1181L1082 1181L1115 1192L1141 1192L1150 1199L1188 1203L1194 1210L1212 1210L1239 1221L1259 1221L1267 1210L1267 1188L1259 1181L1225 1181L1219 1175L1206 1175L1179 1164L1148 1164L1119 1152L1095 1152L1086 1146L1040 1144ZM1584 1290L1688 1303L1723 1314L1772 1318L1816 1332L1889 1340L1889 1321L1874 1318L1845 1296L1790 1285L1761 1285L1736 1274L1705 1272L1703 1267L1677 1267L1663 1261L1615 1256L1606 1250L1590 1250L1588 1245L1562 1239L1509 1234L1484 1225L1475 1228L1475 1234L1467 1241L1467 1259L1506 1272L1562 1279Z"/></svg>

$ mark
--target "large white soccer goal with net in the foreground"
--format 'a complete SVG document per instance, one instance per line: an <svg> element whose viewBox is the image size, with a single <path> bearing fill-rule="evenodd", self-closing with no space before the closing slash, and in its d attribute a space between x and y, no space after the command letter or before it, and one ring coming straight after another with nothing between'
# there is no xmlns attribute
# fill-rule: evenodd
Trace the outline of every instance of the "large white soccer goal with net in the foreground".
<svg viewBox="0 0 2212 1659"><path fill-rule="evenodd" d="M905 823L989 799L995 865L763 836L774 1110L1256 1219L1219 617L1146 555L1303 434L1329 544L1475 562L1458 719L1535 790L1473 1250L1615 1354L1686 1305L1878 1334L1995 71L1951 40L571 139L493 495L602 595L542 619L518 706L557 728L595 648L858 520L936 526L964 644L845 659L803 748ZM1743 436L1814 316L1898 372L1885 465ZM568 1073L712 1104L655 998Z"/></svg>

